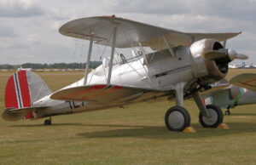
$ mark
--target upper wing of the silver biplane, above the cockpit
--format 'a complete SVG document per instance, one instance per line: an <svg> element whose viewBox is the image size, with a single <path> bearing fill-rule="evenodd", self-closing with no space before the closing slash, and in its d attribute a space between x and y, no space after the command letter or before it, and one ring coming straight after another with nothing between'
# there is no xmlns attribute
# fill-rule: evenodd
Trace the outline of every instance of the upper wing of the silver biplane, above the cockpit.
<svg viewBox="0 0 256 165"><path fill-rule="evenodd" d="M236 37L237 33L188 33L174 31L158 26L151 26L133 20L126 20L117 17L99 16L72 20L61 26L60 33L68 37L78 37L90 40L94 34L94 41L97 44L112 46L113 25L118 25L116 48L131 48L139 46L150 47L154 50L165 49L163 36L173 46L189 46L202 38L214 38L219 42L231 37Z"/></svg>

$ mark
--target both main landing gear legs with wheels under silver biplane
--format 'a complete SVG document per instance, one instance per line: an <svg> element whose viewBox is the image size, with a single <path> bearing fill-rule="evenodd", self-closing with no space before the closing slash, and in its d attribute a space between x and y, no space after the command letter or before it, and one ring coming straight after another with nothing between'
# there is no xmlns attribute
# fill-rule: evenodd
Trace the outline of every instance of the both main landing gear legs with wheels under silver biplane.
<svg viewBox="0 0 256 165"><path fill-rule="evenodd" d="M166 111L166 128L171 131L183 131L190 126L189 112L183 108L184 83L176 86L176 106ZM195 91L192 96L200 110L199 121L204 128L217 128L223 122L223 112L216 105L204 105L201 95Z"/></svg>

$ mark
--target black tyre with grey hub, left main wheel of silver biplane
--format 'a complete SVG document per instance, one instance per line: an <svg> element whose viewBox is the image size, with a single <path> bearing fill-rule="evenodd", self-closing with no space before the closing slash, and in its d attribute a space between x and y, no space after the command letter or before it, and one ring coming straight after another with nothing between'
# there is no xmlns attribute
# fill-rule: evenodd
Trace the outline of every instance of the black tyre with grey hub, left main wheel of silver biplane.
<svg viewBox="0 0 256 165"><path fill-rule="evenodd" d="M181 106L173 106L166 111L166 128L171 131L183 131L190 125L189 112Z"/></svg>

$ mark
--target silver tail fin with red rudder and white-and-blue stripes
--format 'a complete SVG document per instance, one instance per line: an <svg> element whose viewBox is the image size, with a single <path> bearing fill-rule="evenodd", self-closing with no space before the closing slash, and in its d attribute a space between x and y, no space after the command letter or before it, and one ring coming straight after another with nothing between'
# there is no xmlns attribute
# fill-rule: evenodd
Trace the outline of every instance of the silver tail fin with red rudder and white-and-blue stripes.
<svg viewBox="0 0 256 165"><path fill-rule="evenodd" d="M33 102L51 94L51 90L32 71L18 71L9 77L5 88L5 108L32 107Z"/></svg>

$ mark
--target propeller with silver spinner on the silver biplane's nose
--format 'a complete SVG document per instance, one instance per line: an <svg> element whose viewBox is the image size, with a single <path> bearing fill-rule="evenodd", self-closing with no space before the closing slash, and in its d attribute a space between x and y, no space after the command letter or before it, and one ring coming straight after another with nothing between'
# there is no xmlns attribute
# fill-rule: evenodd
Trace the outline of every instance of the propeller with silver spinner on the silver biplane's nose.
<svg viewBox="0 0 256 165"><path fill-rule="evenodd" d="M235 50L230 48L220 48L218 50L212 50L204 54L207 60L219 60L224 58L229 58L230 60L247 60L248 56L246 54L238 54Z"/></svg>

